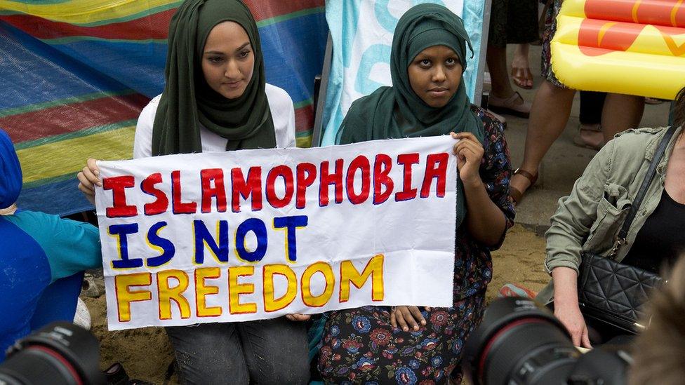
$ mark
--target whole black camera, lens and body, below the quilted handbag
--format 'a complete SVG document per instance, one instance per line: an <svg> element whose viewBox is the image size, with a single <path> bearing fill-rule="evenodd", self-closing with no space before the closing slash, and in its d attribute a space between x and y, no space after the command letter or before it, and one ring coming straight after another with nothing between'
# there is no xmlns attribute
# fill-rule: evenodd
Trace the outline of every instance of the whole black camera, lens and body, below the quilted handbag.
<svg viewBox="0 0 685 385"><path fill-rule="evenodd" d="M506 297L488 306L469 337L463 369L476 385L623 385L631 361L621 346L581 354L547 308Z"/></svg>

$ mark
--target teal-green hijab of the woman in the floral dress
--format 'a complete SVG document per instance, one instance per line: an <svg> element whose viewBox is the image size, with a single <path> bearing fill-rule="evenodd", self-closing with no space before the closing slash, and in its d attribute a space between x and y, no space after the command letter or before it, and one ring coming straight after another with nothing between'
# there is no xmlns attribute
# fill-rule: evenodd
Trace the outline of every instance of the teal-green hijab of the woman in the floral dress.
<svg viewBox="0 0 685 385"><path fill-rule="evenodd" d="M483 142L483 123L471 112L464 78L452 99L440 108L425 104L411 89L408 67L425 48L447 46L466 70L467 46L473 52L463 21L444 6L419 4L402 15L392 36L390 76L392 87L381 87L355 100L338 131L338 144L376 139L473 133ZM463 184L457 180L457 227L466 206Z"/></svg>

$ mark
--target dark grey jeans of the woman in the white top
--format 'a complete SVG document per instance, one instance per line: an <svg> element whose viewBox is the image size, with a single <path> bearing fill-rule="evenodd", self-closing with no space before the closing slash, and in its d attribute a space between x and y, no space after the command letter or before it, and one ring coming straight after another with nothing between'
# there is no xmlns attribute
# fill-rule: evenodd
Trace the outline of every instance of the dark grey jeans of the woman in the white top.
<svg viewBox="0 0 685 385"><path fill-rule="evenodd" d="M305 323L286 318L166 327L182 384L307 384Z"/></svg>

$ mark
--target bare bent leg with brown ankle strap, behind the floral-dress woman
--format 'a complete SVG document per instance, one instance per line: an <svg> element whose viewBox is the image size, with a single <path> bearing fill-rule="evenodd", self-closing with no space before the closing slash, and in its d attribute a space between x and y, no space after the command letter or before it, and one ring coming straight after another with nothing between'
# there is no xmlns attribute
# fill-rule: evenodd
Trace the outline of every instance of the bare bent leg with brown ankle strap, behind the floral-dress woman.
<svg viewBox="0 0 685 385"><path fill-rule="evenodd" d="M538 173L547 150L566 128L575 94L576 90L559 88L547 80L540 85L531 108L521 169L533 175ZM522 175L514 175L511 186L524 192L530 187L530 181Z"/></svg>

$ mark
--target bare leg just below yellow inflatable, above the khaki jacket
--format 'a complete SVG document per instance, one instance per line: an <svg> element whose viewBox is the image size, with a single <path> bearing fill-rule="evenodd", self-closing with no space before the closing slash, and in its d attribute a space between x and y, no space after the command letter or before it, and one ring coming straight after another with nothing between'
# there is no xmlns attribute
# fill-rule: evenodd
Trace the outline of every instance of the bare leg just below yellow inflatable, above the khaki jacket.
<svg viewBox="0 0 685 385"><path fill-rule="evenodd" d="M643 112L644 97L618 93L607 94L604 109L601 112L604 141L608 142L613 135L639 126Z"/></svg>

